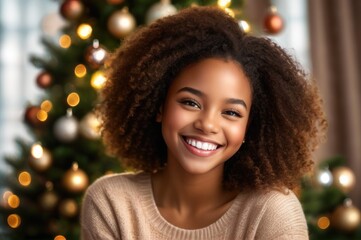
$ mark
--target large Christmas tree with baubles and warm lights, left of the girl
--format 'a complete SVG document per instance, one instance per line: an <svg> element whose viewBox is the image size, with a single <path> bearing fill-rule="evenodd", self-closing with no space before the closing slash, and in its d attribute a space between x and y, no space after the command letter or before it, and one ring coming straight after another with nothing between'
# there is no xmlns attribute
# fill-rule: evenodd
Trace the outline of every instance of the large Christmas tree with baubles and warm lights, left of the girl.
<svg viewBox="0 0 361 240"><path fill-rule="evenodd" d="M34 79L44 95L24 109L34 141L17 140L19 154L7 156L12 169L0 175L6 191L0 204L5 239L79 239L79 209L87 186L107 173L124 171L107 155L94 108L106 81L109 53L136 28L192 5L215 5L242 20L241 1L230 0L63 0L67 24L56 38L44 37L46 56L32 56L40 69ZM276 12L265 30L277 33Z"/></svg>

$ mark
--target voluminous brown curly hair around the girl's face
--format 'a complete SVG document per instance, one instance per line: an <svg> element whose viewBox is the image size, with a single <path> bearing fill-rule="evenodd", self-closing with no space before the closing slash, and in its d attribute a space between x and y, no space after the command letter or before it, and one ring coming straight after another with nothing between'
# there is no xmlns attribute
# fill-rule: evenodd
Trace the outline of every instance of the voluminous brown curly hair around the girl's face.
<svg viewBox="0 0 361 240"><path fill-rule="evenodd" d="M246 143L225 163L225 186L295 187L311 170L312 152L325 136L317 88L282 48L245 34L215 7L188 8L160 19L115 52L99 108L110 152L133 169L164 167L167 147L157 113L172 80L206 58L237 61L253 89Z"/></svg>

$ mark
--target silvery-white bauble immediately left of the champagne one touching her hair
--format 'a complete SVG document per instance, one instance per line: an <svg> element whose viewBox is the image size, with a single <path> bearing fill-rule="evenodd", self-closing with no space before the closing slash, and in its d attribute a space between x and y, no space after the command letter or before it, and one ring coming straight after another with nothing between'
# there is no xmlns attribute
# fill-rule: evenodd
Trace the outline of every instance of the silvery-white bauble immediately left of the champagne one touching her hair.
<svg viewBox="0 0 361 240"><path fill-rule="evenodd" d="M72 116L71 110L68 110L66 116L55 122L54 134L62 142L71 142L78 136L78 128L78 120Z"/></svg>

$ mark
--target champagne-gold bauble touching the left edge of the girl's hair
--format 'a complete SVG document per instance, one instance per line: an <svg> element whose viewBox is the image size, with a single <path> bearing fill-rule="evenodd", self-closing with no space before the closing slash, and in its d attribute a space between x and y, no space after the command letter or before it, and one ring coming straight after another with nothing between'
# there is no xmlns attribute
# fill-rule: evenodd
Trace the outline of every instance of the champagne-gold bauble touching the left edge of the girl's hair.
<svg viewBox="0 0 361 240"><path fill-rule="evenodd" d="M88 113L80 121L79 124L80 134L88 139L100 138L100 121L94 113Z"/></svg>

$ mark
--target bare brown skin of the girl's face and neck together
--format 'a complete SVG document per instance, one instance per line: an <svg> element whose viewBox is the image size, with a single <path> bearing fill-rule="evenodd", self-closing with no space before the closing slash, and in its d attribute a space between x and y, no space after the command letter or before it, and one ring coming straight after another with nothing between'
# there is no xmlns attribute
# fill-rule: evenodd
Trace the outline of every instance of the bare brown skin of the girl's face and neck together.
<svg viewBox="0 0 361 240"><path fill-rule="evenodd" d="M170 223L202 228L230 207L239 191L223 187L224 164L242 145L251 99L249 79L234 61L205 59L171 84L157 117L168 146L167 166L152 175L155 202ZM184 137L219 146L200 150Z"/></svg>

